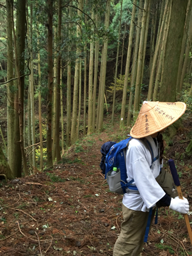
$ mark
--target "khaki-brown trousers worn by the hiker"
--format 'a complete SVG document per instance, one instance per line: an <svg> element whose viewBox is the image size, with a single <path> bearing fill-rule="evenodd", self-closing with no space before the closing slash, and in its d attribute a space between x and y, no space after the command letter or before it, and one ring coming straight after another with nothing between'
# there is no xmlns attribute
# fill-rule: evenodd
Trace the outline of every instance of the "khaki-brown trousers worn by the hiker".
<svg viewBox="0 0 192 256"><path fill-rule="evenodd" d="M155 209L152 213L151 223ZM124 221L120 236L116 240L113 256L139 256L142 252L145 228L147 227L148 212L134 211L123 204L122 214ZM151 225L150 223L150 225Z"/></svg>

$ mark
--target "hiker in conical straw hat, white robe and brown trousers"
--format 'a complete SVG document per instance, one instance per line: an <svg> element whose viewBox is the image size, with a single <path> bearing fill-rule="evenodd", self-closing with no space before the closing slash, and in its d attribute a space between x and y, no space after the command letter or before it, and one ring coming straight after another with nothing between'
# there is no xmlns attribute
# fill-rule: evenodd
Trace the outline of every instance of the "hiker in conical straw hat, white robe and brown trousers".
<svg viewBox="0 0 192 256"><path fill-rule="evenodd" d="M132 189L127 189L122 200L124 221L113 249L113 256L141 255L146 227L150 228L156 206L168 206L182 214L189 211L188 200L179 199L174 188L170 188L170 193L165 192L163 186L172 186L172 184L161 186L161 182L157 182L163 172L164 148L161 132L178 120L185 110L186 104L183 102L143 102L141 106L130 132L132 140L126 152L127 182L132 179L134 182L131 184ZM157 156L154 163L144 140L152 147L154 157ZM166 179L163 182L166 183Z"/></svg>

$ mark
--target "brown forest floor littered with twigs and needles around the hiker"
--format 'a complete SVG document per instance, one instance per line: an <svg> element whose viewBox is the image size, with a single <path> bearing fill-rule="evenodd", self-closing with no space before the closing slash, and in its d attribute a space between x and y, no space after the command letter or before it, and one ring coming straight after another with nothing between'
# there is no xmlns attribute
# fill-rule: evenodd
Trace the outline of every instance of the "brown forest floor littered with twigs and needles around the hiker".
<svg viewBox="0 0 192 256"><path fill-rule="evenodd" d="M175 163L182 193L192 206L192 164L180 160L191 121L183 122L164 162L168 170L167 159L179 153ZM109 191L99 164L100 147L108 140L119 141L120 132L117 123L105 128L77 141L51 170L0 182L0 255L113 255L122 223L122 195ZM182 214L159 209L142 255L192 255Z"/></svg>

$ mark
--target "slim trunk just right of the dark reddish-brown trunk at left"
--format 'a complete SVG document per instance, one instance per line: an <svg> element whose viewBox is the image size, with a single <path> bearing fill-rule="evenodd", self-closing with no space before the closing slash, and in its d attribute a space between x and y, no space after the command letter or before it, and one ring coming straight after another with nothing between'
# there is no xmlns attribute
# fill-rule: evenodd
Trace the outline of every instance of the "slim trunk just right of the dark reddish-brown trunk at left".
<svg viewBox="0 0 192 256"><path fill-rule="evenodd" d="M57 52L57 62L56 62L56 127L55 127L55 139L56 139L56 160L57 162L61 160L61 150L60 150L60 71L61 71L61 0L58 0L58 52Z"/></svg>

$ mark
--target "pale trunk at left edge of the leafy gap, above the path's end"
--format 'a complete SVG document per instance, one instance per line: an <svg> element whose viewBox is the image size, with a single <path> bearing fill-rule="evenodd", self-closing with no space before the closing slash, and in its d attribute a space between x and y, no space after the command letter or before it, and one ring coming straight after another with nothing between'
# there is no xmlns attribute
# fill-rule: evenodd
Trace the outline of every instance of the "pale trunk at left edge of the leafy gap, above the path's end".
<svg viewBox="0 0 192 256"><path fill-rule="evenodd" d="M111 0L107 0L106 3L106 15L105 15L105 29L109 28L109 17L110 17L110 5ZM107 66L107 56L108 56L108 38L104 38L104 51L102 60L102 76L100 77L100 106L99 106L99 132L102 130L103 124L103 113L104 113L104 93L106 87L106 66Z"/></svg>

